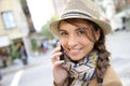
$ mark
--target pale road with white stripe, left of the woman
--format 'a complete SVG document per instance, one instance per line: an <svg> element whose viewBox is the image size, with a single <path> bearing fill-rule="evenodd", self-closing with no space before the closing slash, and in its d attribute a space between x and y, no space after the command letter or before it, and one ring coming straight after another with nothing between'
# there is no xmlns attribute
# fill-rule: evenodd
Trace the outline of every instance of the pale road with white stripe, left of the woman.
<svg viewBox="0 0 130 86"><path fill-rule="evenodd" d="M37 66L21 69L3 77L2 86L52 86L50 58Z"/></svg>

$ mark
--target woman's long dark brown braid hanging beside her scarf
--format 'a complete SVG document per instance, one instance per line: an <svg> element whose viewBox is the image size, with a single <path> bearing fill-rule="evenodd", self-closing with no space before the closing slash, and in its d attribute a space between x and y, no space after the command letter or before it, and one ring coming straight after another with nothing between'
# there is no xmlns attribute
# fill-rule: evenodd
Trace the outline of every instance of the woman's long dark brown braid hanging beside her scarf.
<svg viewBox="0 0 130 86"><path fill-rule="evenodd" d="M100 29L100 26L98 26L95 23L90 22L93 26L94 29ZM94 44L94 49L96 49L99 52L99 59L96 61L96 69L95 69L95 73L96 73L96 80L98 80L98 84L99 86L102 86L103 83L103 76L107 70L107 67L109 66L109 55L110 53L106 49L105 47L105 35L103 33L103 31L100 31L100 39L99 41L95 42Z"/></svg>

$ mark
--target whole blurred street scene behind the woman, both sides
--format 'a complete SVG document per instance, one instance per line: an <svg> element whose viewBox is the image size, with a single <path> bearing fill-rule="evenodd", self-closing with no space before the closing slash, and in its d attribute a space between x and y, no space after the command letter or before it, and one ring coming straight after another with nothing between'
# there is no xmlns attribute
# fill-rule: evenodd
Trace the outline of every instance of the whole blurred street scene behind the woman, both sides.
<svg viewBox="0 0 130 86"><path fill-rule="evenodd" d="M48 28L69 0L0 0L0 86L52 86ZM130 86L130 0L93 0L112 25L106 46L123 86Z"/></svg>

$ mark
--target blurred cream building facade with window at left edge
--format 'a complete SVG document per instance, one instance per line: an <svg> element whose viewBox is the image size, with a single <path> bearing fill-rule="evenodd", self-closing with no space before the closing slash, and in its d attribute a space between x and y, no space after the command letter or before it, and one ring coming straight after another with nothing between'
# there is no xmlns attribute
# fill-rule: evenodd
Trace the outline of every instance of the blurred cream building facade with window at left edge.
<svg viewBox="0 0 130 86"><path fill-rule="evenodd" d="M16 51L20 43L23 43L29 56L28 37L35 32L31 16L26 0L0 0L0 61L11 60L11 45ZM3 54L6 52L6 55Z"/></svg>

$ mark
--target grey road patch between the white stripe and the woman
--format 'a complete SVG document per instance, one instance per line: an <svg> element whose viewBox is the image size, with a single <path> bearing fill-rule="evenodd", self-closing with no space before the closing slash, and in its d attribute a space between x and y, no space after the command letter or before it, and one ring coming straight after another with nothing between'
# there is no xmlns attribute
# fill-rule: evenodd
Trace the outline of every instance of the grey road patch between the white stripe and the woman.
<svg viewBox="0 0 130 86"><path fill-rule="evenodd" d="M51 62L24 70L17 86L52 86Z"/></svg>

